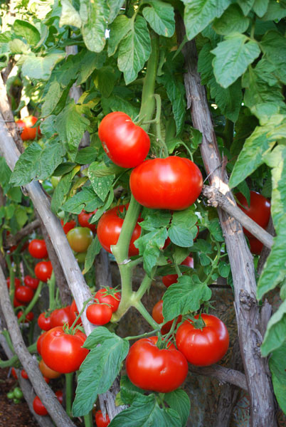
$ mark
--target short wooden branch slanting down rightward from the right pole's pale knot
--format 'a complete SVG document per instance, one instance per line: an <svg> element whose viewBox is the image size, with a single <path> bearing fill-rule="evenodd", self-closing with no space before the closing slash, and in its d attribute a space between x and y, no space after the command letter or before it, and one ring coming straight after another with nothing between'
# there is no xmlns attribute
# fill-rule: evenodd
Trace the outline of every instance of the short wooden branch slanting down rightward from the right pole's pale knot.
<svg viewBox="0 0 286 427"><path fill-rule="evenodd" d="M225 191L230 191L228 186L224 187ZM220 206L223 211L226 211L230 216L235 218L244 228L246 228L250 233L253 234L258 240L260 240L267 248L271 248L273 244L273 238L270 233L265 231L264 228L258 226L258 223L255 223L253 219L247 216L241 209L238 208L233 197L230 197L228 194L223 194L215 186L203 186L201 191L203 196L208 199L208 204L217 208Z"/></svg>

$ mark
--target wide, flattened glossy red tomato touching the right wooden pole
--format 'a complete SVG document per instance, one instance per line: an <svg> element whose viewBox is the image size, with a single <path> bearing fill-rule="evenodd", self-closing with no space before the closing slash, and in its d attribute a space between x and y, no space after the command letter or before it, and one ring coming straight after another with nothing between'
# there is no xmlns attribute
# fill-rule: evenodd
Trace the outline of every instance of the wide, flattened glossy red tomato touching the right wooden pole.
<svg viewBox="0 0 286 427"><path fill-rule="evenodd" d="M200 169L182 157L145 160L130 175L134 198L151 209L186 209L198 199L202 188Z"/></svg>

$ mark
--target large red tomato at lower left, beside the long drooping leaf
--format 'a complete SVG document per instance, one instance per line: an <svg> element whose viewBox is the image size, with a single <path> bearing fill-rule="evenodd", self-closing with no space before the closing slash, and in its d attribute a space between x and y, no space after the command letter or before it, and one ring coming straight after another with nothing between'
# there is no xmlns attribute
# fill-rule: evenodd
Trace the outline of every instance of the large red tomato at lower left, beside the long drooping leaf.
<svg viewBox="0 0 286 427"><path fill-rule="evenodd" d="M66 334L58 326L46 332L41 346L43 361L55 371L62 374L77 371L88 355L88 349L82 346L86 335L80 330L75 334Z"/></svg>

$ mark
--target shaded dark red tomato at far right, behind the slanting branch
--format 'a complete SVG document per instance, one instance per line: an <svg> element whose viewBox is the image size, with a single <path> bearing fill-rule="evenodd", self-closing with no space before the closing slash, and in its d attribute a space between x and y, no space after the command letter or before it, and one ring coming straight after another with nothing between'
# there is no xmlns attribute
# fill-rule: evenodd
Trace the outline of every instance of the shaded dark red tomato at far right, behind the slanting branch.
<svg viewBox="0 0 286 427"><path fill-rule="evenodd" d="M271 204L268 199L256 191L250 191L250 206L248 206L248 202L243 194L235 194L235 197L238 199L240 204L243 205L241 206L238 204L239 209L253 219L255 223L258 223L260 227L266 228L268 226L271 213ZM248 230L245 230L245 228L243 228L243 233L245 233L245 236L255 238Z"/></svg>

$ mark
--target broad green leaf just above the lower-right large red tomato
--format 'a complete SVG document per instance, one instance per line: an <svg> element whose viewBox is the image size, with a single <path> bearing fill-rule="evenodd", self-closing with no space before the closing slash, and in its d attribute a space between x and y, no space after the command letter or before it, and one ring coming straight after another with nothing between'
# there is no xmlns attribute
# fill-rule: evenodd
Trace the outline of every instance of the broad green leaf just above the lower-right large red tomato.
<svg viewBox="0 0 286 427"><path fill-rule="evenodd" d="M201 283L197 275L182 275L163 295L163 316L168 322L179 315L196 312L201 304L211 299L211 289Z"/></svg>

